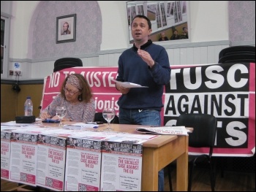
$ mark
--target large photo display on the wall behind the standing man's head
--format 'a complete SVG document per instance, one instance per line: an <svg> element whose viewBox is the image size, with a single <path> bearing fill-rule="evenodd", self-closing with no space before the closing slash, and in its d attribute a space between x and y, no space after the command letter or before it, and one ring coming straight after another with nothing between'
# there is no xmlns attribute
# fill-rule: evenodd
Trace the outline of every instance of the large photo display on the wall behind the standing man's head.
<svg viewBox="0 0 256 192"><path fill-rule="evenodd" d="M190 42L189 1L127 1L129 44L132 38L132 20L145 15L151 21L152 42ZM170 43L170 42L169 42Z"/></svg>

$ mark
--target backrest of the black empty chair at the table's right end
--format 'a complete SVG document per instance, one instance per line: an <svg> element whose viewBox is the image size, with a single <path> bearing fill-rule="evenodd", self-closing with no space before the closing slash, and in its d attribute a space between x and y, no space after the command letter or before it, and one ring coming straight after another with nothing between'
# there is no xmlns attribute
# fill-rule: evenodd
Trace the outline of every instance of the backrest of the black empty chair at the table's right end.
<svg viewBox="0 0 256 192"><path fill-rule="evenodd" d="M194 128L189 133L189 147L214 147L217 119L208 114L182 114L178 117L176 126Z"/></svg>

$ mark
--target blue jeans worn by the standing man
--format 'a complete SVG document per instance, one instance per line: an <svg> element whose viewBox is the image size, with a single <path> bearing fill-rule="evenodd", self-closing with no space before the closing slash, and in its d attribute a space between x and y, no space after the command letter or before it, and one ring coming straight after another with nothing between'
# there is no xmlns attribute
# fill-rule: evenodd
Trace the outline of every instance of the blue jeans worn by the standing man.
<svg viewBox="0 0 256 192"><path fill-rule="evenodd" d="M119 108L120 124L135 124L143 126L160 126L161 115L157 110L126 110ZM164 169L158 172L158 191L164 191Z"/></svg>

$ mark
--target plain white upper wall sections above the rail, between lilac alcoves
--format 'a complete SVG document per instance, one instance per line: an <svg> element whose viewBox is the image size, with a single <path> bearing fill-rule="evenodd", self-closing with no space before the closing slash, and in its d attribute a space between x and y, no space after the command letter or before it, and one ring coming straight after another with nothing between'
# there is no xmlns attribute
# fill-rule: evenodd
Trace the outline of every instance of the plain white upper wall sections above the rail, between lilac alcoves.
<svg viewBox="0 0 256 192"><path fill-rule="evenodd" d="M31 15L39 1L13 1L10 58L27 58ZM98 1L102 12L101 50L129 46L126 1ZM227 1L189 1L192 42L228 40ZM207 15L207 16L206 16ZM43 28L42 30L47 30Z"/></svg>

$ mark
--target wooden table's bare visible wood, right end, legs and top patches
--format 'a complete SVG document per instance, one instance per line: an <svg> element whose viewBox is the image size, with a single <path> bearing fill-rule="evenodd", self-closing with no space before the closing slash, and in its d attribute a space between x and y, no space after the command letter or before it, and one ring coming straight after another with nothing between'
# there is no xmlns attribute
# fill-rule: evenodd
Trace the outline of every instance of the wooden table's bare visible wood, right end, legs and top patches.
<svg viewBox="0 0 256 192"><path fill-rule="evenodd" d="M69 123L65 122L64 123ZM99 131L108 124L99 125ZM113 131L139 134L138 125L110 124ZM91 128L93 129L93 128ZM95 129L94 129L95 130ZM142 191L158 191L158 172L172 161L177 160L177 191L187 191L188 185L188 137L161 135L143 142Z"/></svg>

